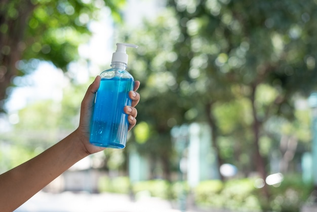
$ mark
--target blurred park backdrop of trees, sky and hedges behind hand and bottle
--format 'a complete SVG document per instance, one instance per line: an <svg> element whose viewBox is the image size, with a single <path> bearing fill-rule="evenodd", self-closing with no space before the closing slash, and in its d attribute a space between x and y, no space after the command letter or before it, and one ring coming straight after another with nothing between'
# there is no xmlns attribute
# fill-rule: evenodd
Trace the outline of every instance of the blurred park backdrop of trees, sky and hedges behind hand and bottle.
<svg viewBox="0 0 317 212"><path fill-rule="evenodd" d="M316 8L1 0L0 173L72 132L115 43L132 43L141 101L127 147L83 159L43 192L155 197L181 211L314 211Z"/></svg>

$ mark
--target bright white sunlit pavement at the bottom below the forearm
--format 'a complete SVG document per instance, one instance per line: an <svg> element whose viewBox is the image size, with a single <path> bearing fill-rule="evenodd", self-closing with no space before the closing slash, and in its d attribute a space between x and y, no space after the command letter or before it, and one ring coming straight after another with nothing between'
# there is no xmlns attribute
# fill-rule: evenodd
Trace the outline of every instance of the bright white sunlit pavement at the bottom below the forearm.
<svg viewBox="0 0 317 212"><path fill-rule="evenodd" d="M179 210L170 201L141 195L132 201L128 195L101 193L38 192L15 212L196 212Z"/></svg>

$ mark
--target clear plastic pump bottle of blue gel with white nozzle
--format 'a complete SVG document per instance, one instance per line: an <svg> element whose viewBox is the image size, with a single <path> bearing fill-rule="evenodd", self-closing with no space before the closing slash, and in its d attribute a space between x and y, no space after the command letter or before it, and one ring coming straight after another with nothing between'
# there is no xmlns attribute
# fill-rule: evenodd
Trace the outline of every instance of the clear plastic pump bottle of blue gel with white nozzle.
<svg viewBox="0 0 317 212"><path fill-rule="evenodd" d="M116 44L112 54L111 68L101 74L101 82L95 97L95 106L90 129L90 143L100 147L125 148L128 134L128 115L125 105L131 106L129 91L133 90L134 79L127 72L126 47L133 44Z"/></svg>

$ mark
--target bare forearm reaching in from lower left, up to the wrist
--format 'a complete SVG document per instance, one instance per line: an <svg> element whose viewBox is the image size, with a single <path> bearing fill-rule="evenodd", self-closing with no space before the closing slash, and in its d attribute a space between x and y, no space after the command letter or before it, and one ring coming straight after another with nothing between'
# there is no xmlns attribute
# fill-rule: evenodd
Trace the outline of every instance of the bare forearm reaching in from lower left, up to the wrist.
<svg viewBox="0 0 317 212"><path fill-rule="evenodd" d="M35 158L0 175L0 210L13 211L78 160L86 157L73 132Z"/></svg>

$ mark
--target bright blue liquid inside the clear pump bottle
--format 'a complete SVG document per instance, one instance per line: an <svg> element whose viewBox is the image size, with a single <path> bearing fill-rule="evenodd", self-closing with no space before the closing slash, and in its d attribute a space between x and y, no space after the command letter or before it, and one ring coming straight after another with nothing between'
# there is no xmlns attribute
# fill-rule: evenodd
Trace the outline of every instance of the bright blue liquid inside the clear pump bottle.
<svg viewBox="0 0 317 212"><path fill-rule="evenodd" d="M128 94L133 86L132 76L101 79L91 123L91 144L115 149L125 148L129 122L124 107L131 106L132 100Z"/></svg>

